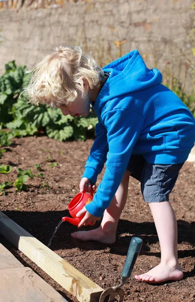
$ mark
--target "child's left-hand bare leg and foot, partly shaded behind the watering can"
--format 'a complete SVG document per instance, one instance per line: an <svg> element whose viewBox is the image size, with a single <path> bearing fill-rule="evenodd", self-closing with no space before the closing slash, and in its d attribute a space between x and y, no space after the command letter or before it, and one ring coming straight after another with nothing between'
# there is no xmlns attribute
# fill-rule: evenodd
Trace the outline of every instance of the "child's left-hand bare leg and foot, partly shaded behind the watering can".
<svg viewBox="0 0 195 302"><path fill-rule="evenodd" d="M130 172L126 170L121 184L108 209L105 210L102 223L99 228L90 231L72 233L73 238L80 240L95 240L112 244L116 241L116 230L122 210L127 201Z"/></svg>

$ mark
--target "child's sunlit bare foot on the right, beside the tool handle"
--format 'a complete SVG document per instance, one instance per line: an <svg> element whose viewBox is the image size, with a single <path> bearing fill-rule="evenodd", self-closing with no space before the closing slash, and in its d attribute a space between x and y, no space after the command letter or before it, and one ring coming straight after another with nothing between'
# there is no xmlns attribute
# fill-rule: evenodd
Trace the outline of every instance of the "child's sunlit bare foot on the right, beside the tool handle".
<svg viewBox="0 0 195 302"><path fill-rule="evenodd" d="M179 264L171 267L160 263L149 272L136 275L135 278L149 283L160 283L168 280L179 281L183 278L183 272Z"/></svg>

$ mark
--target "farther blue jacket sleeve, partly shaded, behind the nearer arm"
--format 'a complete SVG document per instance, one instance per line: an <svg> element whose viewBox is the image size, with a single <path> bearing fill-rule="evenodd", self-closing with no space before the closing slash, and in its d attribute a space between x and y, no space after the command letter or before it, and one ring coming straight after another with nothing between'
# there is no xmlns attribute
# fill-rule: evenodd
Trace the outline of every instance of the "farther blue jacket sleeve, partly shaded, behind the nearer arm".
<svg viewBox="0 0 195 302"><path fill-rule="evenodd" d="M108 141L107 141L107 129L101 124L101 122L95 125L96 138L90 150L90 155L84 166L85 171L82 177L87 177L94 184L96 183L97 176L102 172L104 164L107 159L108 153Z"/></svg>

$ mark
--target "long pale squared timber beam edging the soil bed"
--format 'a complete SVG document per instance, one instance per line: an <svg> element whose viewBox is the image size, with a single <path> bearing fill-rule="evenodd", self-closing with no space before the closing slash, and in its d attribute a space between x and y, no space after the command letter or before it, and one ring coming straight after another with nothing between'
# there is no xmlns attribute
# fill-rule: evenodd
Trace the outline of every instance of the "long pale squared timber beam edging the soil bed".
<svg viewBox="0 0 195 302"><path fill-rule="evenodd" d="M80 302L95 302L104 290L0 211L0 233Z"/></svg>

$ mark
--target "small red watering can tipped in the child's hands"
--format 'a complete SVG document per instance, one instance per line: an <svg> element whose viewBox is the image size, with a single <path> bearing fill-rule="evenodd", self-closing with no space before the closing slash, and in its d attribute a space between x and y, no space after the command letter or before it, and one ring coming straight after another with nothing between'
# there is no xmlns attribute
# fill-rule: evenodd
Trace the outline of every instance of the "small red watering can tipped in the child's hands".
<svg viewBox="0 0 195 302"><path fill-rule="evenodd" d="M93 199L93 191L91 189L90 194L85 192L80 192L76 194L72 200L68 204L68 210L71 217L62 217L62 221L68 221L71 224L78 225L79 222L82 220L85 214L80 217L76 217L76 214L89 202Z"/></svg>

